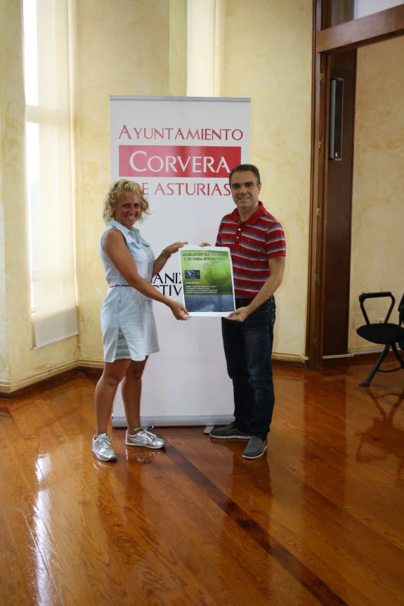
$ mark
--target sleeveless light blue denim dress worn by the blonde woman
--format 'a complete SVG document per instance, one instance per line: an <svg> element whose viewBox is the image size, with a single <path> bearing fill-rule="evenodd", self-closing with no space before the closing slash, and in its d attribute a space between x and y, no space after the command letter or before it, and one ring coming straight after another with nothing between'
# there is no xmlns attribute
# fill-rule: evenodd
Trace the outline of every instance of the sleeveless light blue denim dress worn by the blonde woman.
<svg viewBox="0 0 404 606"><path fill-rule="evenodd" d="M141 295L129 286L117 270L101 245L104 234L110 229L119 229L124 235L139 276L152 280L155 257L148 244L136 228L128 229L118 221L109 221L100 237L99 253L105 269L105 278L110 288L101 309L101 328L105 362L114 362L122 357L142 361L149 354L159 351L157 330L152 310L152 299ZM122 335L124 340L122 339ZM126 342L126 347L125 347ZM122 356L122 343L127 355ZM119 344L119 347L118 347ZM121 355L119 351L121 350Z"/></svg>

